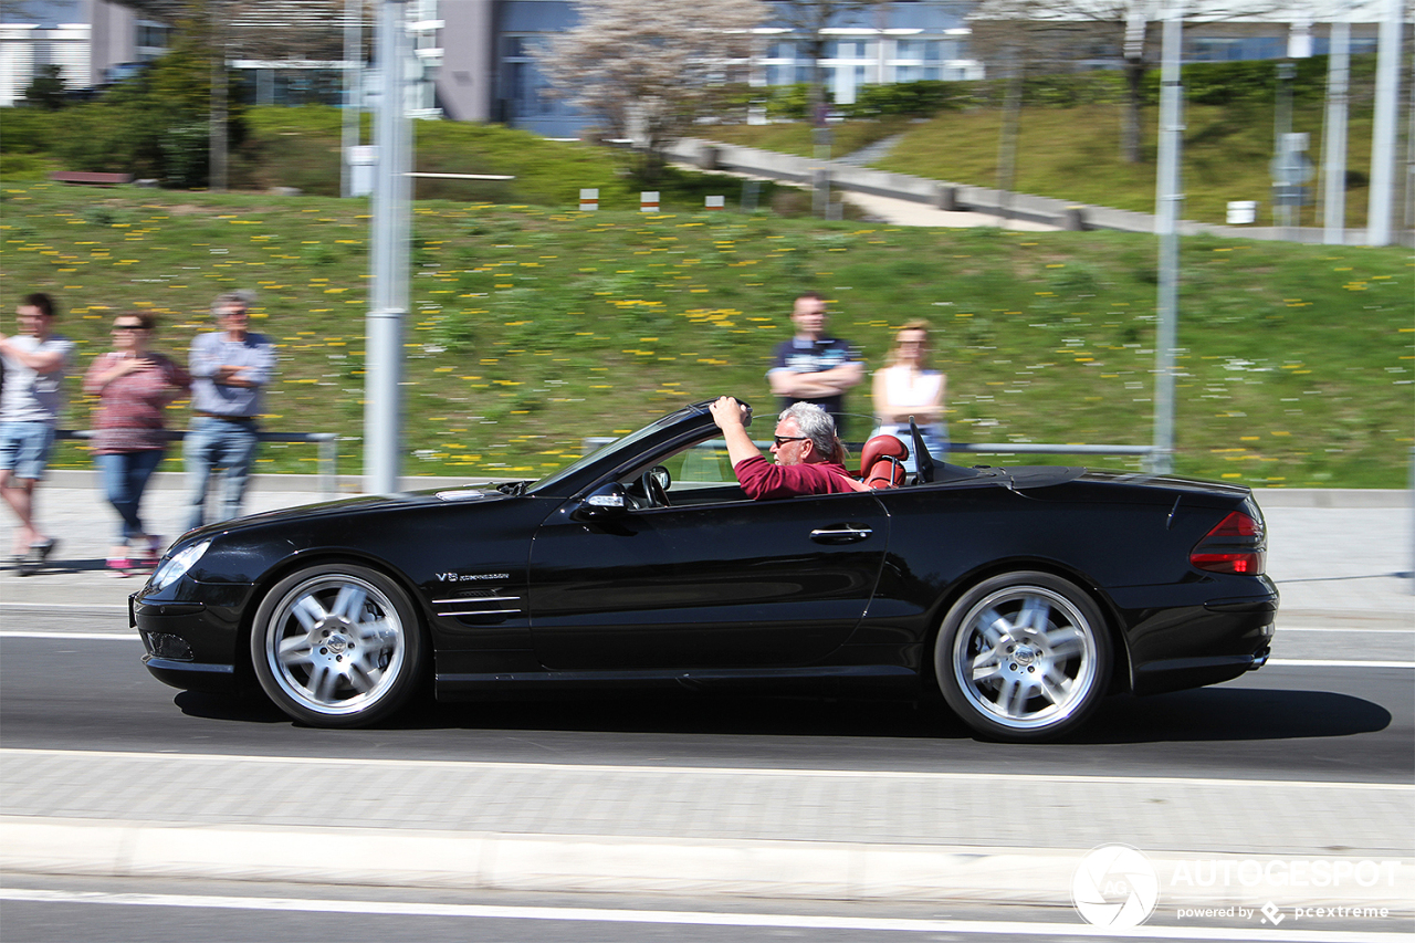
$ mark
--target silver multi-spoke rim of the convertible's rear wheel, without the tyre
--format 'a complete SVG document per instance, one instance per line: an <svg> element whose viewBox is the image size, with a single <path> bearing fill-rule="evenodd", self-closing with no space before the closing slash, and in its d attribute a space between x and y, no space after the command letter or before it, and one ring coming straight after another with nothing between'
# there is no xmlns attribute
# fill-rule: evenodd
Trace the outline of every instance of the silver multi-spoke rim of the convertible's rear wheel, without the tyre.
<svg viewBox="0 0 1415 943"><path fill-rule="evenodd" d="M1054 728L1094 701L1098 631L1057 590L1005 586L962 617L949 670L968 705L993 724L1016 732Z"/></svg>

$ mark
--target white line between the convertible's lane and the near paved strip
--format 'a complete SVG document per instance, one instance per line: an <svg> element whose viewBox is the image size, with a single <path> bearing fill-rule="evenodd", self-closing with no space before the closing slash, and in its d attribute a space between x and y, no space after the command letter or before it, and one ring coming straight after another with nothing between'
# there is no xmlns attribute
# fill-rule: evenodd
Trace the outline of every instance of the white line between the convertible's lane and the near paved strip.
<svg viewBox="0 0 1415 943"><path fill-rule="evenodd" d="M59 750L31 749L23 746L0 748L0 758L71 758L119 759L140 762L218 762L218 763L290 763L297 766L379 766L408 769L457 769L457 770L533 770L567 773L637 773L651 776L727 775L727 776L804 776L814 779L917 779L917 780L983 780L988 783L1108 783L1119 786L1225 786L1240 789L1296 787L1296 789L1356 789L1377 791L1415 793L1409 783L1347 783L1320 780L1265 780L1265 779L1193 779L1182 776L1067 776L1060 773L934 773L916 770L848 770L848 769L785 769L756 766L616 766L607 763L516 763L497 760L422 760L422 759L364 759L338 756L266 756L250 753L139 753L123 750Z"/></svg>

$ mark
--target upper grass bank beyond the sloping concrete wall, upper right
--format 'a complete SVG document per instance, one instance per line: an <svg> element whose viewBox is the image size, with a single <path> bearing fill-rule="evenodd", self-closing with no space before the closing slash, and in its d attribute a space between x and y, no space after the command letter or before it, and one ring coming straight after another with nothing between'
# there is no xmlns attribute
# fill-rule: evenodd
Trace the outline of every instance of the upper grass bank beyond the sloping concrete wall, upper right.
<svg viewBox="0 0 1415 943"><path fill-rule="evenodd" d="M1159 113L1145 109L1145 161L1119 159L1121 109L1116 105L1023 109L1019 123L1017 193L1073 202L1155 212L1155 150ZM872 140L904 130L890 154L873 164L932 180L998 185L998 142L1002 113L995 109L944 112L927 122L845 122L836 126L835 154L859 150ZM1272 108L1187 105L1183 143L1183 217L1199 222L1224 222L1231 200L1257 200L1259 224L1272 225L1271 173ZM1310 135L1309 156L1322 156L1322 109L1303 105L1293 112L1295 132ZM737 125L713 129L724 142L811 154L811 129L804 123ZM1347 135L1348 188L1346 221L1365 225L1365 171L1371 163L1371 119L1351 115ZM1312 185L1320 185L1313 180ZM1302 222L1316 225L1313 207L1303 207Z"/></svg>

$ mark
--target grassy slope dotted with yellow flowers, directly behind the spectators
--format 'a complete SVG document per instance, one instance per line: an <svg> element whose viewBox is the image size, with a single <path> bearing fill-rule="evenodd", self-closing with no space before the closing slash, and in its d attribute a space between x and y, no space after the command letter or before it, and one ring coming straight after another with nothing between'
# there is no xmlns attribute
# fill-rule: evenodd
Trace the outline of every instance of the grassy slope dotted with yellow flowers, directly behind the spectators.
<svg viewBox="0 0 1415 943"><path fill-rule="evenodd" d="M52 292L81 370L106 350L119 310L157 312L158 348L180 353L209 330L218 292L255 287L255 328L282 357L266 426L348 436L341 467L361 469L366 201L45 183L6 183L0 197L0 306ZM770 351L807 287L832 299L835 333L872 367L894 326L920 316L937 326L957 440L1152 435L1150 236L579 214L573 201L423 201L413 228L410 474L539 476L584 436L685 402L732 392L767 405ZM1399 249L1186 239L1179 470L1255 486L1404 487L1412 292ZM76 387L65 425L83 428L92 402ZM867 392L849 409L869 412ZM173 411L174 423L185 416L185 405ZM307 446L269 446L260 462L314 470ZM59 464L88 457L68 446Z"/></svg>

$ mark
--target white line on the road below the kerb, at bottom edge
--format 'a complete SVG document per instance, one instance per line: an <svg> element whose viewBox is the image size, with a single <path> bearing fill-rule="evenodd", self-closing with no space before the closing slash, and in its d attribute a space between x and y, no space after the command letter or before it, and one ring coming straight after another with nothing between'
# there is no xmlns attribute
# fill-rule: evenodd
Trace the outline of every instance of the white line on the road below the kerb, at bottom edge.
<svg viewBox="0 0 1415 943"><path fill-rule="evenodd" d="M917 918L852 918L831 915L798 913L719 913L712 910L618 910L611 908L548 908L548 906L504 906L485 903L406 903L400 901L345 901L301 898L238 898L215 895L177 893L106 893L38 891L24 888L0 889L0 901L24 903L100 903L117 906L147 908L205 908L221 910L277 910L304 913L348 913L369 916L434 916L470 918L483 920L566 920L593 923L657 923L674 926L732 926L732 927L778 927L802 930L856 930L856 932L906 932L906 933L982 933L1012 935L1020 937L1107 937L1107 939L1169 939L1169 940L1238 940L1247 943L1266 940L1292 940L1295 943L1329 943L1350 940L1351 943L1405 943L1405 933L1348 930L1264 930L1223 929L1199 926L1139 926L1132 930L1115 930L1087 923L1029 923L1023 920L949 920Z"/></svg>

